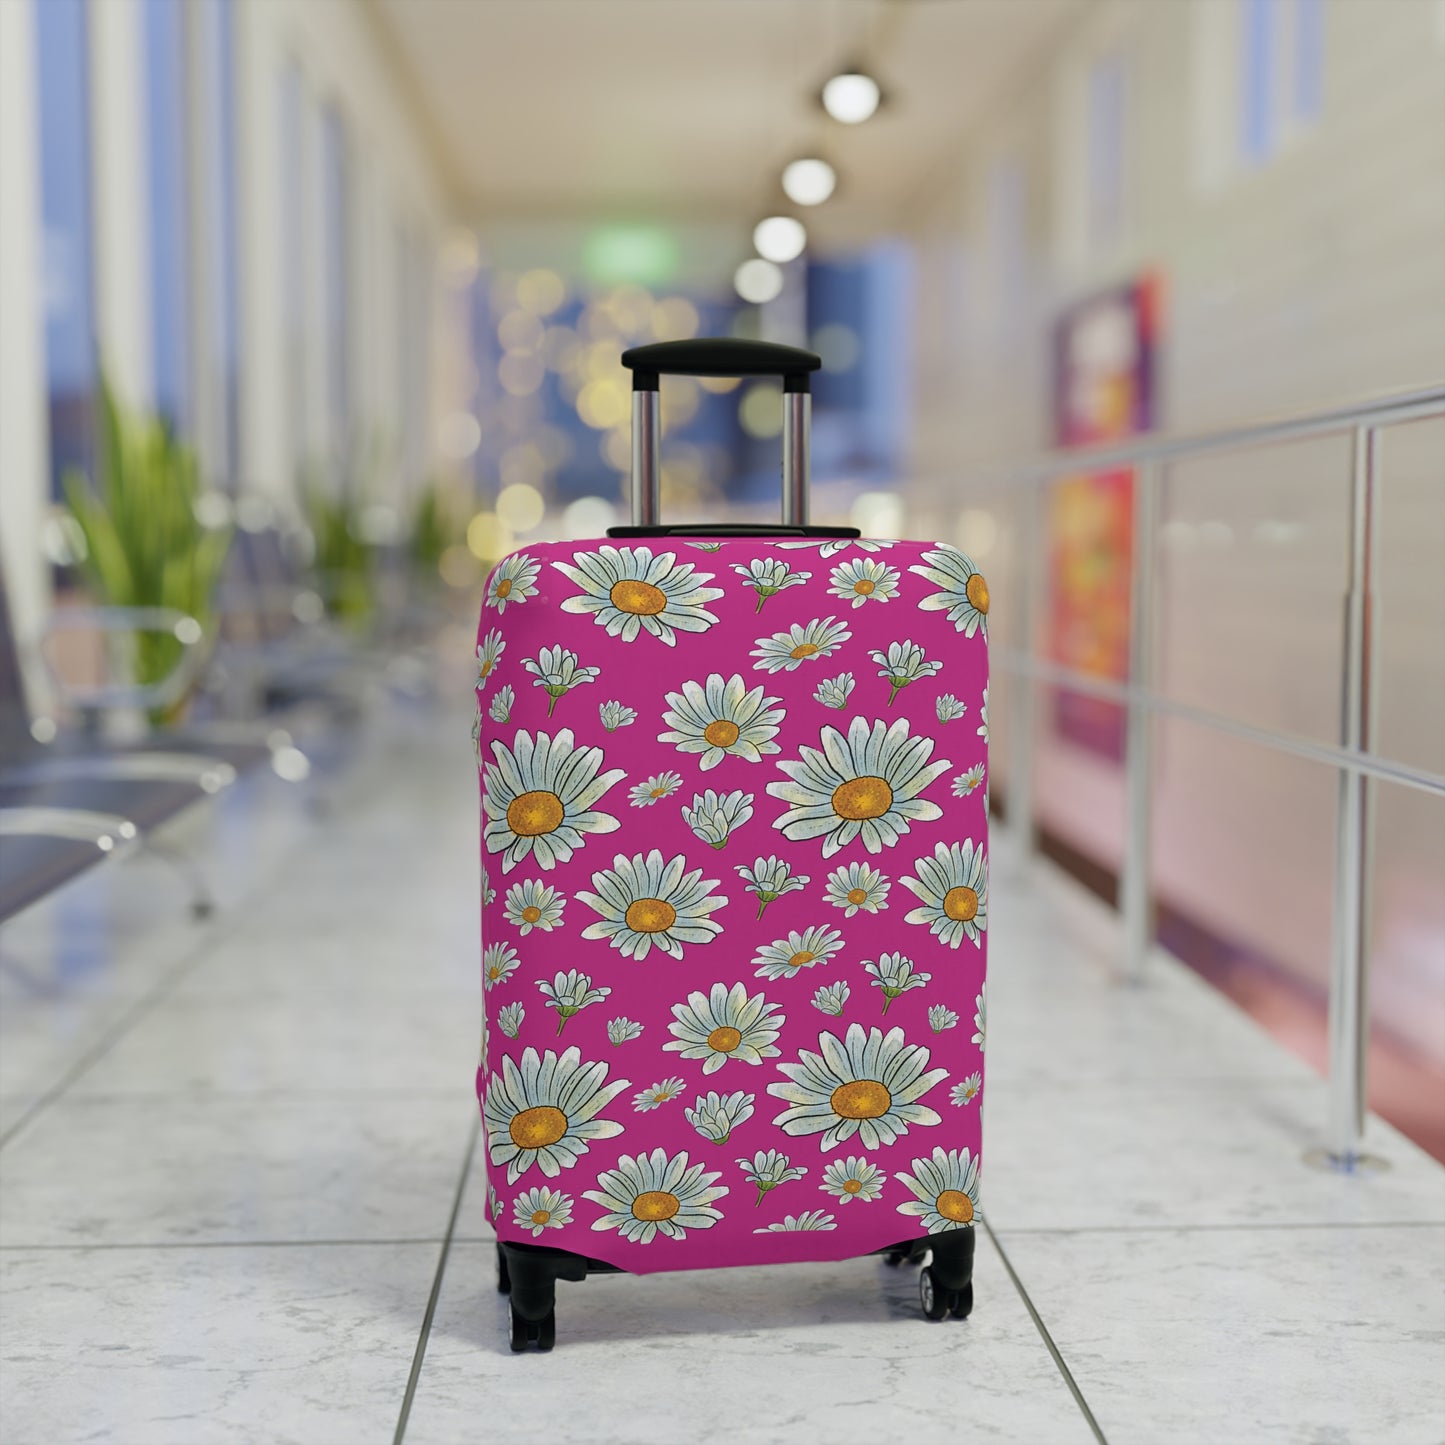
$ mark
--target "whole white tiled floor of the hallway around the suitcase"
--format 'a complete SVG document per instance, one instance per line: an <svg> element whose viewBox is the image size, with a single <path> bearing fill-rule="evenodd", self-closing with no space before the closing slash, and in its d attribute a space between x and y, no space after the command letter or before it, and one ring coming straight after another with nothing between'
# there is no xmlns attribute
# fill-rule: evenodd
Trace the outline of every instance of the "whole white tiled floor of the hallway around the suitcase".
<svg viewBox="0 0 1445 1445"><path fill-rule="evenodd" d="M465 718L329 818L189 825L0 936L0 1441L1438 1445L1445 1170L1308 1169L1319 1082L996 842L977 1308L864 1260L562 1286L506 1350L483 1220Z"/></svg>

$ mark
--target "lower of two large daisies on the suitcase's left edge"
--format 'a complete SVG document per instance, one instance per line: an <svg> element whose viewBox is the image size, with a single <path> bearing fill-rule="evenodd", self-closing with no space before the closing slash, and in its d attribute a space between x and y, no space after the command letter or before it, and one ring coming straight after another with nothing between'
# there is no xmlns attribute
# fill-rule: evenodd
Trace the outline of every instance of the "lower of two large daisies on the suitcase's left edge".
<svg viewBox="0 0 1445 1445"><path fill-rule="evenodd" d="M594 1139L613 1139L621 1124L597 1116L627 1088L627 1079L607 1079L607 1065L582 1064L578 1049L539 1055L523 1049L520 1064L501 1056L483 1103L487 1150L493 1165L507 1166L516 1183L532 1165L549 1179L569 1169Z"/></svg>

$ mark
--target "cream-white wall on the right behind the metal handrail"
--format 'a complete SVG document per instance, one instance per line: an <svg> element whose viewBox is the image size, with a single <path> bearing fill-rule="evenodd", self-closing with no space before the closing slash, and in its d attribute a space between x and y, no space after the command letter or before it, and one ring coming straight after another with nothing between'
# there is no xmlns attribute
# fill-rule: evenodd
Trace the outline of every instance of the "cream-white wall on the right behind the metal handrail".
<svg viewBox="0 0 1445 1445"><path fill-rule="evenodd" d="M1325 0L1322 110L1286 126L1279 152L1257 166L1237 160L1238 16L1234 0L1090 12L918 198L925 380L909 530L954 538L961 504L990 512L959 540L988 553L980 561L994 578L1001 643L1019 642L1010 572L1026 543L1020 514L994 504L978 478L984 461L1052 442L1049 327L1069 302L1143 269L1162 275L1169 429L1445 379L1439 7ZM1101 249L1084 224L1084 95L1090 64L1110 51L1127 75L1126 205ZM1010 175L1022 178L1022 208L1001 204ZM1445 425L1392 434L1384 454L1381 747L1445 772ZM1344 445L1311 444L1176 470L1156 598L1168 689L1263 725L1335 736L1345 467ZM949 504L932 500L939 494ZM1006 679L994 691L1006 779ZM1043 698L1039 711L1040 818L1117 864L1118 767L1059 738ZM1156 822L1157 883L1172 903L1324 980L1328 770L1166 725ZM1381 789L1377 837L1377 1014L1445 1058L1445 808Z"/></svg>

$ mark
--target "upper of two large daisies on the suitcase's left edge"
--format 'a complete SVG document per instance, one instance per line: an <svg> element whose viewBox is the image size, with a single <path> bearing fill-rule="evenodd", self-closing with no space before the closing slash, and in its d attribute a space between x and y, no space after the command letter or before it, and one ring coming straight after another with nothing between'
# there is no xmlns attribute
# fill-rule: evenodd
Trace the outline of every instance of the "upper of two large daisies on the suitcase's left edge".
<svg viewBox="0 0 1445 1445"><path fill-rule="evenodd" d="M509 749L491 744L494 763L484 769L483 806L488 853L501 853L510 873L527 854L542 868L566 863L588 834L616 832L617 819L597 811L607 790L623 776L620 767L600 773L603 750L578 747L571 728L555 737L517 733Z"/></svg>

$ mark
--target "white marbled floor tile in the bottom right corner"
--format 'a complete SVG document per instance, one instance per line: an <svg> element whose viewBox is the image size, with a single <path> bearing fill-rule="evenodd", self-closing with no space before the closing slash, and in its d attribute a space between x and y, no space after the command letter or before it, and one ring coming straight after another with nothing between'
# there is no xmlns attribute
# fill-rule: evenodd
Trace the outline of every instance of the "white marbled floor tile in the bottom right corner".
<svg viewBox="0 0 1445 1445"><path fill-rule="evenodd" d="M1000 1237L1110 1445L1445 1439L1445 1228Z"/></svg>

